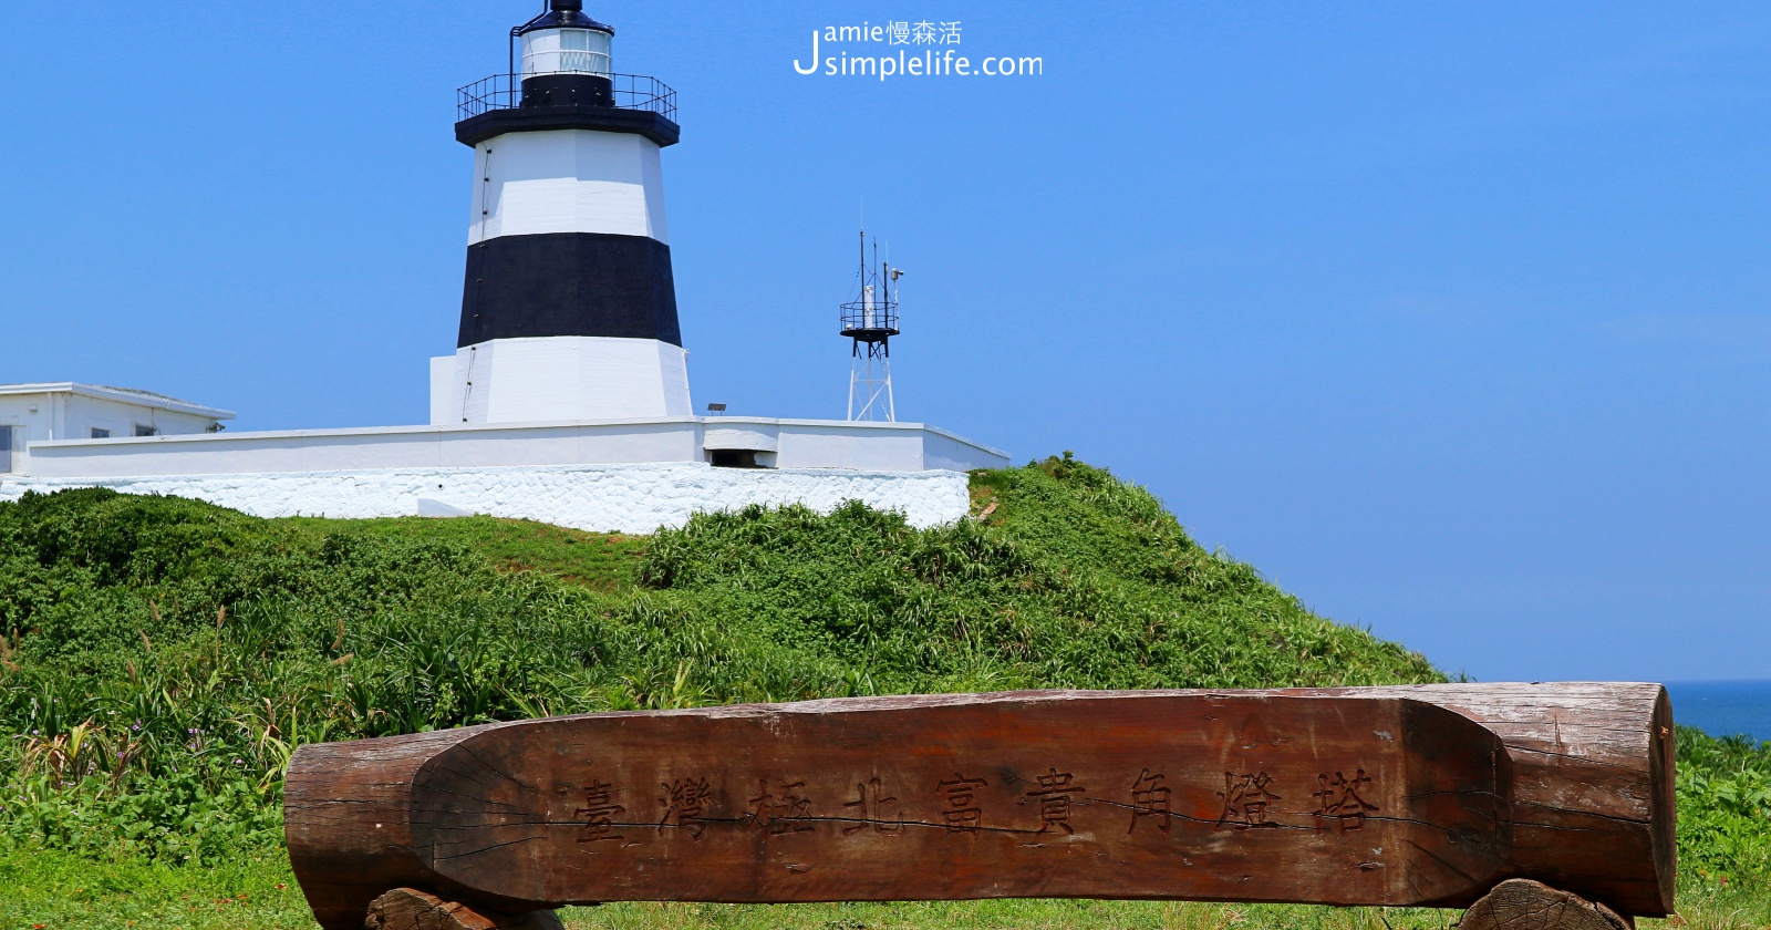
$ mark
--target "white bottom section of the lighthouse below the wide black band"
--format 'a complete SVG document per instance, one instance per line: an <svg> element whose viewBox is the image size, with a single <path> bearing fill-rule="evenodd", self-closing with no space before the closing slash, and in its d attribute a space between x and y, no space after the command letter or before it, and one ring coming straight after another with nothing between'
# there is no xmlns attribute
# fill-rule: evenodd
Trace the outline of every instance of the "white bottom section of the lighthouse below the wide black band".
<svg viewBox="0 0 1771 930"><path fill-rule="evenodd" d="M430 425L689 416L689 353L655 338L494 338L430 360Z"/></svg>

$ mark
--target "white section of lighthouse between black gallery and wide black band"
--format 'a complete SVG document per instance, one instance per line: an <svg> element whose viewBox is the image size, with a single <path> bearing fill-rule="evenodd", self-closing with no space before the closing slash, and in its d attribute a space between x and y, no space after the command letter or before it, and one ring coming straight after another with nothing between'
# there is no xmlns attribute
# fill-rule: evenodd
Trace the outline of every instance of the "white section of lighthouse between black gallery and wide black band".
<svg viewBox="0 0 1771 930"><path fill-rule="evenodd" d="M468 244L496 236L613 232L669 244L655 142L632 133L507 133L475 147Z"/></svg>

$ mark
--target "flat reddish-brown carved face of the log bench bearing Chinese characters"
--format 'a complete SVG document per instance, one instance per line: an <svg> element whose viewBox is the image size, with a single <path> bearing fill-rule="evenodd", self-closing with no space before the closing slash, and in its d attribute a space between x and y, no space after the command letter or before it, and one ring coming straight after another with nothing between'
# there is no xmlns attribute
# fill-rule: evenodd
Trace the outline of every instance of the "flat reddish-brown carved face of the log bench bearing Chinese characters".
<svg viewBox="0 0 1771 930"><path fill-rule="evenodd" d="M439 753L413 783L413 843L445 880L535 902L1411 903L1498 873L1504 778L1488 730L1404 700L1041 693L597 714ZM1280 859L1293 864L1270 868Z"/></svg>

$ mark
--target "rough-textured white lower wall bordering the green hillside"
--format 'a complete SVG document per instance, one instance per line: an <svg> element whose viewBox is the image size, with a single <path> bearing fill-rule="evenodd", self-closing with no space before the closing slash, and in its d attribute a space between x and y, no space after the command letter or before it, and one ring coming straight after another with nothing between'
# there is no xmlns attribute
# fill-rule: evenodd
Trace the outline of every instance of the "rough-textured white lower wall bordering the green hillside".
<svg viewBox="0 0 1771 930"><path fill-rule="evenodd" d="M901 510L910 524L921 528L958 521L971 507L967 477L960 471L733 469L698 462L135 478L0 477L0 500L67 487L198 498L257 517L489 514L604 533L650 533L659 526L682 526L696 512L737 510L753 503L802 503L829 512L847 500L859 500L878 510Z"/></svg>

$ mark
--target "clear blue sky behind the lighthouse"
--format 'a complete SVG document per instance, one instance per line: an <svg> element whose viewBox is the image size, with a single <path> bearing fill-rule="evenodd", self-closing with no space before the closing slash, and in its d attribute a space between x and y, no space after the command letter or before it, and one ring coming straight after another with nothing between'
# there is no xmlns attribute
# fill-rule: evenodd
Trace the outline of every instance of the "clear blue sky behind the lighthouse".
<svg viewBox="0 0 1771 930"><path fill-rule="evenodd" d="M0 9L0 381L423 422L453 90L535 5ZM909 269L901 418L1075 450L1452 671L1771 677L1762 4L588 12L678 90L696 404L841 416L864 200ZM891 19L1043 74L793 71Z"/></svg>

